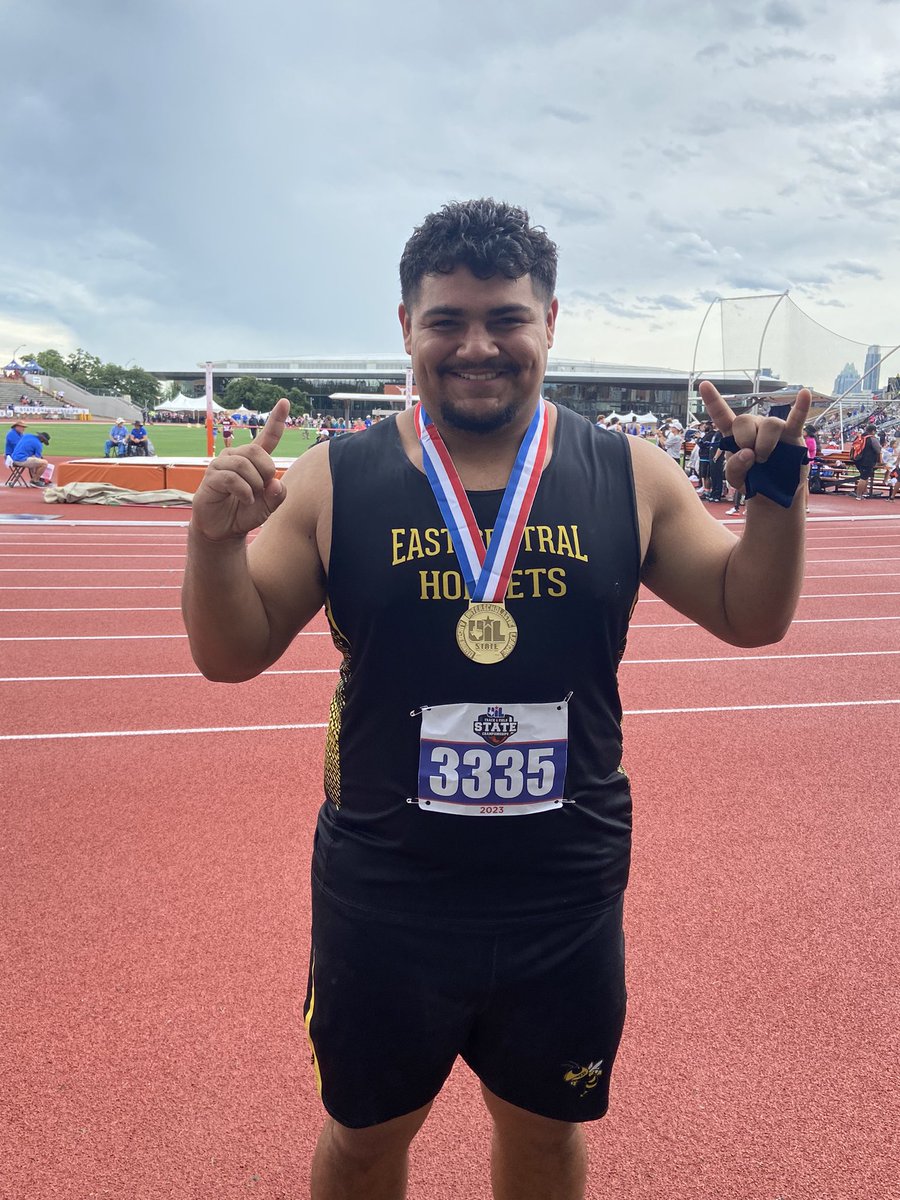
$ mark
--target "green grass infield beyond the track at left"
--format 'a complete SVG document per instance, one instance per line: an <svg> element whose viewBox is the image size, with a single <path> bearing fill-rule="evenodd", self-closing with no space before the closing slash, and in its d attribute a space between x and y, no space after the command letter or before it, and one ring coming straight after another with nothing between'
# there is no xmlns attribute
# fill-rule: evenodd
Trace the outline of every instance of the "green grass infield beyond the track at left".
<svg viewBox="0 0 900 1200"><path fill-rule="evenodd" d="M0 438L4 440L10 431L10 421L0 424ZM102 457L112 424L112 421L48 421L40 419L28 421L29 432L46 431L50 434L47 454L52 458ZM148 425L146 430L157 455L200 458L206 454L206 430L204 426ZM236 430L232 445L245 445L250 440L251 437L246 430ZM316 433L311 430L286 430L276 455L284 458L299 458L305 450L313 445L314 440ZM216 438L215 445L217 452L222 450L221 434Z"/></svg>

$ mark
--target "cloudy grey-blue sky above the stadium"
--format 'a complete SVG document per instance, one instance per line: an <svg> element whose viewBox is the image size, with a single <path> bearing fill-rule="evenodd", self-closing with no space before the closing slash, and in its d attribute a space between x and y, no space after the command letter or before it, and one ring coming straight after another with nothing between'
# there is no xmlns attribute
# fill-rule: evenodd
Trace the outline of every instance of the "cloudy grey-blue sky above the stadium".
<svg viewBox="0 0 900 1200"><path fill-rule="evenodd" d="M407 236L488 194L559 245L560 356L688 368L786 288L900 342L900 4L619 8L7 0L0 353L396 355Z"/></svg>

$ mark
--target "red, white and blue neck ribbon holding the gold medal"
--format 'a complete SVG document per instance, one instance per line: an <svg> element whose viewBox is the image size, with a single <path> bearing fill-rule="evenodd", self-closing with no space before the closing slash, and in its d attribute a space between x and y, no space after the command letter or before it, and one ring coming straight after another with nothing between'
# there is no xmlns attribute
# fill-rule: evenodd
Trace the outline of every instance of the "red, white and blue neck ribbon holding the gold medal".
<svg viewBox="0 0 900 1200"><path fill-rule="evenodd" d="M425 474L460 560L469 599L503 604L547 454L550 421L544 397L538 400L522 438L487 547L450 451L421 402L414 416Z"/></svg>

